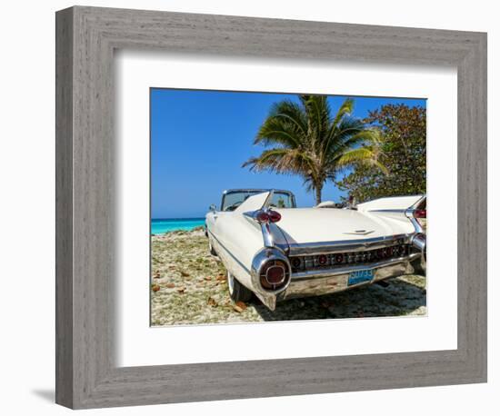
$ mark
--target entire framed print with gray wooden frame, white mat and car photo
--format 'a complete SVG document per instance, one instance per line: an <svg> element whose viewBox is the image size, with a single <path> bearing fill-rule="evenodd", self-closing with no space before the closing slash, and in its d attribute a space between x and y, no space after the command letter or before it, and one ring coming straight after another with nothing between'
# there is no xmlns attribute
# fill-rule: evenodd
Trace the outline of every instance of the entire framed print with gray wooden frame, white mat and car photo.
<svg viewBox="0 0 500 416"><path fill-rule="evenodd" d="M56 15L56 401L486 380L486 36Z"/></svg>

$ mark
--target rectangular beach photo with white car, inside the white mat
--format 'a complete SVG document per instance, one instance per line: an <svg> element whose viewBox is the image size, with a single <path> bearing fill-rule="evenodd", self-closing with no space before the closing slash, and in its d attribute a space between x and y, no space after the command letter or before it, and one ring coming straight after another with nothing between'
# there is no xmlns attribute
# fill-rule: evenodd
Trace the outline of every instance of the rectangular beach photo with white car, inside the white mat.
<svg viewBox="0 0 500 416"><path fill-rule="evenodd" d="M426 100L150 88L151 326L426 315Z"/></svg>

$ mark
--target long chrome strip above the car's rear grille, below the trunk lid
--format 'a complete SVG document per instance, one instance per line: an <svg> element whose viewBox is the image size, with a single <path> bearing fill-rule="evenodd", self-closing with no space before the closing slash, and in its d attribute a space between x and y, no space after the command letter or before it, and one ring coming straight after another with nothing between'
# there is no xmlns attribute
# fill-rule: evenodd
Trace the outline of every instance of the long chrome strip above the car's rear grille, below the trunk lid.
<svg viewBox="0 0 500 416"><path fill-rule="evenodd" d="M315 255L325 253L361 252L368 249L384 248L397 240L409 243L413 233L385 235L384 237L365 238L363 240L337 240L335 242L290 243L289 255Z"/></svg>

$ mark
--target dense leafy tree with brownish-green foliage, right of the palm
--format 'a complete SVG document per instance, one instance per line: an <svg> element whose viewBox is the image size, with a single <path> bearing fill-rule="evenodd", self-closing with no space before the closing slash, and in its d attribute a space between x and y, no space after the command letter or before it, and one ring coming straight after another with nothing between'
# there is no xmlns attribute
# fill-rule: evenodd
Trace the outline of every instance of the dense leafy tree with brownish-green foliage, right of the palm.
<svg viewBox="0 0 500 416"><path fill-rule="evenodd" d="M358 203L383 196L425 193L425 108L386 104L369 112L365 123L380 132L378 160L387 172L355 163L352 172L336 185Z"/></svg>

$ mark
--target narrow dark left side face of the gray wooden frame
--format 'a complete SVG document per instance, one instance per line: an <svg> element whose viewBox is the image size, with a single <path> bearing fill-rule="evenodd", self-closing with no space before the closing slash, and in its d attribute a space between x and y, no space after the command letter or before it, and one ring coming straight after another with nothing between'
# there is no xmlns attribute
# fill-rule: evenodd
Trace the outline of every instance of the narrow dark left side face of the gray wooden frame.
<svg viewBox="0 0 500 416"><path fill-rule="evenodd" d="M55 401L73 404L73 13L55 22Z"/></svg>

